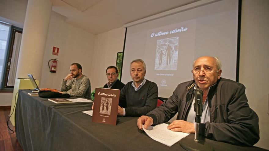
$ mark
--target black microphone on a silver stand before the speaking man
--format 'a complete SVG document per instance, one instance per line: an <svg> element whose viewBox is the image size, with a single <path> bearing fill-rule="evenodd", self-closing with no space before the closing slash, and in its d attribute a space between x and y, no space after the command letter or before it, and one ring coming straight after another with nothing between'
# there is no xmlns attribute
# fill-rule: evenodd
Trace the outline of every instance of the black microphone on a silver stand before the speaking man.
<svg viewBox="0 0 269 151"><path fill-rule="evenodd" d="M194 140L199 141L198 139L198 133L199 133L199 123L201 123L201 116L203 112L203 94L204 92L200 89L194 90L194 111L195 111L195 135Z"/></svg>

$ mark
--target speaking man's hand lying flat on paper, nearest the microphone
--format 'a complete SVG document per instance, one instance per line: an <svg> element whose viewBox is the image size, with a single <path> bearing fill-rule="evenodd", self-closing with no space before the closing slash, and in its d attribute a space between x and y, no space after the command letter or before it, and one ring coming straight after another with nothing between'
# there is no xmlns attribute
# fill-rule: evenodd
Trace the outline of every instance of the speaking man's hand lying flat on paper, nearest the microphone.
<svg viewBox="0 0 269 151"><path fill-rule="evenodd" d="M167 126L168 130L171 131L182 131L184 133L194 133L194 124L186 122L185 120L174 120L171 124Z"/></svg>

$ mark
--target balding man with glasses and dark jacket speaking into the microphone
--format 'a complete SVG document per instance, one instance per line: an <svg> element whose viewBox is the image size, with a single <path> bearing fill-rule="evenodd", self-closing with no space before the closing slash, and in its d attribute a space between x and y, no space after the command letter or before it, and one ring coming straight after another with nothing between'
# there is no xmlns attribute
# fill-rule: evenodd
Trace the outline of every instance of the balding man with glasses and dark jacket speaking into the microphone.
<svg viewBox="0 0 269 151"><path fill-rule="evenodd" d="M199 135L216 141L252 146L259 137L259 119L249 108L245 86L220 77L218 58L203 56L193 62L193 79L178 85L172 96L161 106L141 116L137 126L142 129L164 123L176 113L177 120L168 125L171 131L195 132L194 90L203 91L203 110Z"/></svg>

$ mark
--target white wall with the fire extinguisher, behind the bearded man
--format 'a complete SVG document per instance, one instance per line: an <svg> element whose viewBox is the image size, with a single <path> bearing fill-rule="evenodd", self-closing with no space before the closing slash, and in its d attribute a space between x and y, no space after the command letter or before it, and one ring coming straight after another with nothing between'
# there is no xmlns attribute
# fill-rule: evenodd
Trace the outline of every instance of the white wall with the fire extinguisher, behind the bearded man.
<svg viewBox="0 0 269 151"><path fill-rule="evenodd" d="M59 48L58 56L52 55L53 46ZM93 48L93 34L67 24L64 16L52 11L39 87L59 90L62 79L70 73L72 63L81 64L82 73L91 79ZM57 71L51 73L48 61L55 58L59 60Z"/></svg>

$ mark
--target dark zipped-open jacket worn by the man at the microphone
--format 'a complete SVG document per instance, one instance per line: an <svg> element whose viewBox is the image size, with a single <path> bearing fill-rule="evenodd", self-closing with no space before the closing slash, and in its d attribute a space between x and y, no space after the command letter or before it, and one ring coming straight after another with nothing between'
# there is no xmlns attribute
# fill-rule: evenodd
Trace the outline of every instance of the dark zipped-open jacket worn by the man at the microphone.
<svg viewBox="0 0 269 151"><path fill-rule="evenodd" d="M194 80L179 84L166 102L149 112L153 124L167 122L177 112L177 120L186 120L194 85ZM236 145L254 145L260 139L259 118L247 102L243 84L220 78L208 92L210 122L199 125L199 135Z"/></svg>

